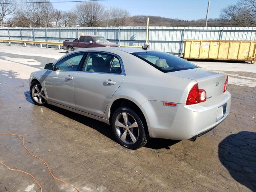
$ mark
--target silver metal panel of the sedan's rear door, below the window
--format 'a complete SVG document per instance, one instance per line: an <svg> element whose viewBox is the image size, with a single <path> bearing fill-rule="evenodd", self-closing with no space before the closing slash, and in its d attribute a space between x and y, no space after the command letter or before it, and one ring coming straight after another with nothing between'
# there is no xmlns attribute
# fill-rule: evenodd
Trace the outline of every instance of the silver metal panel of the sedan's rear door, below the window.
<svg viewBox="0 0 256 192"><path fill-rule="evenodd" d="M76 109L102 117L124 77L121 74L78 72L74 84ZM104 83L106 80L115 84Z"/></svg>

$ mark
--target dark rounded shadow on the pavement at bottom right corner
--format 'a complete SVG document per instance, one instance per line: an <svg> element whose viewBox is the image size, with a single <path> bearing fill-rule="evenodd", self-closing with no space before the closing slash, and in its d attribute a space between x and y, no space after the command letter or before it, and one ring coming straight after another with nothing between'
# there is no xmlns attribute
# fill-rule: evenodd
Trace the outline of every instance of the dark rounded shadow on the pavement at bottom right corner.
<svg viewBox="0 0 256 192"><path fill-rule="evenodd" d="M219 144L220 162L230 175L252 191L256 191L256 133L242 131Z"/></svg>

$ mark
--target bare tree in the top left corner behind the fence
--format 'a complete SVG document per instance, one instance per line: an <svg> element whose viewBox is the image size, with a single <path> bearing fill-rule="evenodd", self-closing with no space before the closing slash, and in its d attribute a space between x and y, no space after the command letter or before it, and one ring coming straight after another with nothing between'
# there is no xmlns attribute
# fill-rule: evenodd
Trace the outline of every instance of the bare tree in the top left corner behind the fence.
<svg viewBox="0 0 256 192"><path fill-rule="evenodd" d="M14 0L0 0L0 22L1 26L4 23L4 18L6 16L13 14L15 10L15 5L12 4Z"/></svg>

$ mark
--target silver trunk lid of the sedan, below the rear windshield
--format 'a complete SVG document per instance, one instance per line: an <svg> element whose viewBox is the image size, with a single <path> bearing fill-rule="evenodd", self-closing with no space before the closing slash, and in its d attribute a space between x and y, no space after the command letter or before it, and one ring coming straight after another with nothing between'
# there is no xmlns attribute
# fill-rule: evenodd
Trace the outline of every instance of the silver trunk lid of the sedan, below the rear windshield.
<svg viewBox="0 0 256 192"><path fill-rule="evenodd" d="M211 102L223 94L224 82L227 75L204 68L170 72L170 75L188 78L198 82L199 89L206 91L206 102ZM205 102L204 102L205 103Z"/></svg>

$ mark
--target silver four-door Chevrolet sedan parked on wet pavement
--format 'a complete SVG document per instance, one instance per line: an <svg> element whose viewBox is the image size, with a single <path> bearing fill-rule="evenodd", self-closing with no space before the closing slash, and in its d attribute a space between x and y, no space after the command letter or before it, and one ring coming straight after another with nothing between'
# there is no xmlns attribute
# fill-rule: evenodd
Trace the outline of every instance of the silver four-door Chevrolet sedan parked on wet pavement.
<svg viewBox="0 0 256 192"><path fill-rule="evenodd" d="M139 48L74 51L33 72L29 82L35 104L110 124L130 149L150 137L195 140L228 116L231 103L226 74Z"/></svg>

